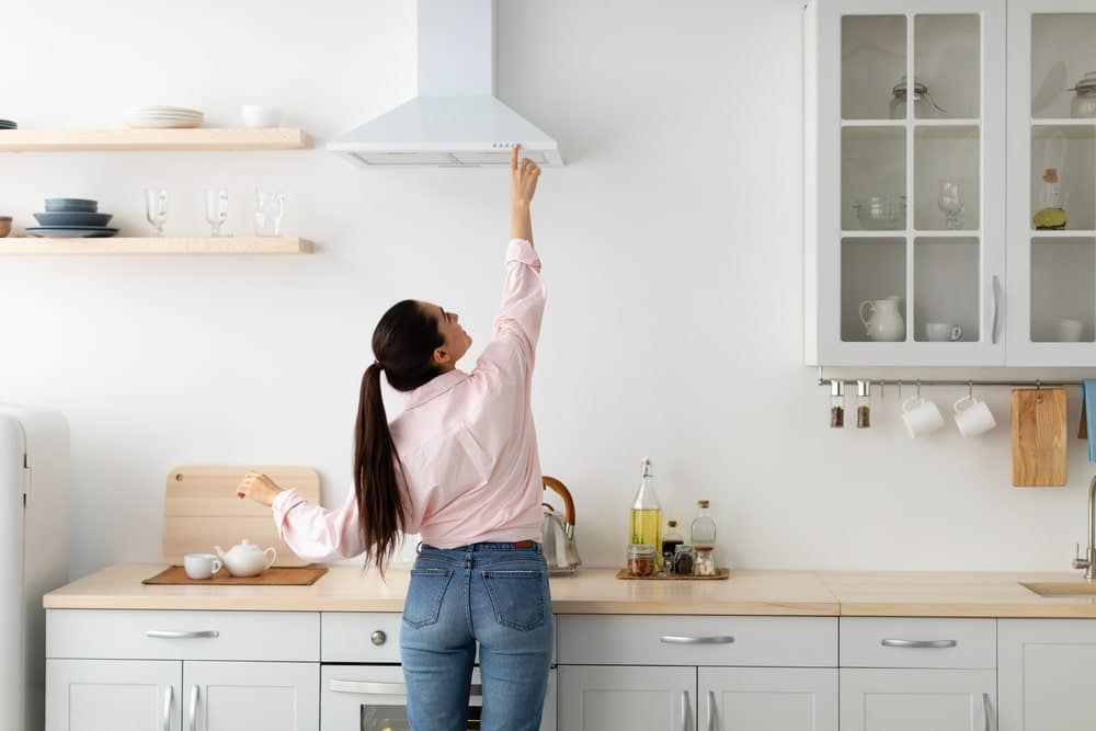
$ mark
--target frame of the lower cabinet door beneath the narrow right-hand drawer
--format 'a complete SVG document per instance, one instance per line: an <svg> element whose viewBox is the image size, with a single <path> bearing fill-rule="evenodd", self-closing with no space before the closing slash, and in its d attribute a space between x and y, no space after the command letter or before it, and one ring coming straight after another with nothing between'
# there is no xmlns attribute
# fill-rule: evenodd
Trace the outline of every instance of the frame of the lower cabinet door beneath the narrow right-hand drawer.
<svg viewBox="0 0 1096 731"><path fill-rule="evenodd" d="M997 728L997 674L993 670L841 669L841 729L867 731L864 697L868 693L969 694L970 731Z"/></svg>

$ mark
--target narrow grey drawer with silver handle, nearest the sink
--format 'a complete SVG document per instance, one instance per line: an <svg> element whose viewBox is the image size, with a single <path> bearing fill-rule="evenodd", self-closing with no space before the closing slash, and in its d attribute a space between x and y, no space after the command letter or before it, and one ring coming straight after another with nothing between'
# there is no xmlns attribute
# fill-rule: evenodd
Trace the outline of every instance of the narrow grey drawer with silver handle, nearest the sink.
<svg viewBox="0 0 1096 731"><path fill-rule="evenodd" d="M996 667L995 619L842 617L842 667Z"/></svg>

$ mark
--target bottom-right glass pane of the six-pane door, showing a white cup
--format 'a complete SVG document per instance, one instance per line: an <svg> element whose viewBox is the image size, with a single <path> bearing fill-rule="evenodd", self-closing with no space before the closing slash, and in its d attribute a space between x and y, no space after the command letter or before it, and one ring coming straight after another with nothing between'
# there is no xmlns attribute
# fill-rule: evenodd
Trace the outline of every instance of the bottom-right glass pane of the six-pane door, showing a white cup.
<svg viewBox="0 0 1096 731"><path fill-rule="evenodd" d="M977 342L978 239L916 239L913 244L913 336Z"/></svg>

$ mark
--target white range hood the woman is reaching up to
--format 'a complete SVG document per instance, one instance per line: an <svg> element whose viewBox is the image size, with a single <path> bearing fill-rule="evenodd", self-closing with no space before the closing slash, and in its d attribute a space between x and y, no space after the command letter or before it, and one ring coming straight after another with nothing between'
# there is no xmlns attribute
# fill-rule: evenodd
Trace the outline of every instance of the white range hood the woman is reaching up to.
<svg viewBox="0 0 1096 731"><path fill-rule="evenodd" d="M345 136L333 152L366 167L510 163L510 149L562 165L559 144L494 96L495 0L419 0L419 95Z"/></svg>

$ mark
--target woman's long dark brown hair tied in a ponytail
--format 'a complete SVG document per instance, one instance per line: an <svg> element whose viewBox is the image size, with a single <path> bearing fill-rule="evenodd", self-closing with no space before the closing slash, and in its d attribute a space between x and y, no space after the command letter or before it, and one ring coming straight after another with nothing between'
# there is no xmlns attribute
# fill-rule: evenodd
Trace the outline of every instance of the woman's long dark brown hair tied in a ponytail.
<svg viewBox="0 0 1096 731"><path fill-rule="evenodd" d="M388 429L380 396L380 372L398 391L419 388L437 376L434 350L445 342L437 320L413 299L393 305L373 331L377 361L362 376L362 396L354 426L354 491L365 538L366 566L375 563L384 574L385 563L396 551L399 534L407 526L411 505L407 502L396 469L403 466Z"/></svg>

